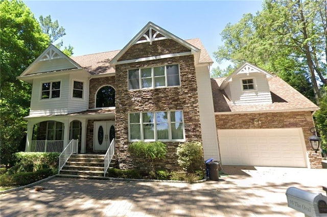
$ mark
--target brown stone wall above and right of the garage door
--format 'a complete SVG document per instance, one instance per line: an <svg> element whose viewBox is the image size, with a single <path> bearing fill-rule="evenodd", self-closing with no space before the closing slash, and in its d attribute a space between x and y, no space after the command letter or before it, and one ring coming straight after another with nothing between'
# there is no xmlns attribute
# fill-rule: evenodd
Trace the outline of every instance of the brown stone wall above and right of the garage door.
<svg viewBox="0 0 327 217"><path fill-rule="evenodd" d="M303 112L275 112L250 114L224 114L215 115L217 129L255 129L255 128L302 128L306 141L307 154L311 168L321 168L320 152L318 156L312 151L308 138L312 135L310 128L314 127L310 111ZM254 120L260 119L255 125ZM219 138L219 134L218 134ZM313 153L312 153L313 152ZM319 155L320 154L320 155Z"/></svg>

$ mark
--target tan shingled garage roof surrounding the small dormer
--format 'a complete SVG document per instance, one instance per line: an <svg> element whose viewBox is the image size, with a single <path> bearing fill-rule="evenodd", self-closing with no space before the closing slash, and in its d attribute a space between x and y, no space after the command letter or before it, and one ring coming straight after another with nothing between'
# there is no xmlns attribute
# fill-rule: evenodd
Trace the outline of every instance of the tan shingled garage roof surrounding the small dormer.
<svg viewBox="0 0 327 217"><path fill-rule="evenodd" d="M319 107L277 76L268 79L272 104L235 105L220 87L226 78L212 78L212 93L216 113L253 113L281 111L317 111Z"/></svg>

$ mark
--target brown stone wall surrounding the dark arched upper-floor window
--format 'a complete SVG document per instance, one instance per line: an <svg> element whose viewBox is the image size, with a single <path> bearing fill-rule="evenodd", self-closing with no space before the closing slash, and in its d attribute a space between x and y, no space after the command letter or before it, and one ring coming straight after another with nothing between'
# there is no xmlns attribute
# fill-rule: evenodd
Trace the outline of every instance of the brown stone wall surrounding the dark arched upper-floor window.
<svg viewBox="0 0 327 217"><path fill-rule="evenodd" d="M115 76L90 79L88 108L95 108L97 91L99 88L106 85L110 85L115 89Z"/></svg>

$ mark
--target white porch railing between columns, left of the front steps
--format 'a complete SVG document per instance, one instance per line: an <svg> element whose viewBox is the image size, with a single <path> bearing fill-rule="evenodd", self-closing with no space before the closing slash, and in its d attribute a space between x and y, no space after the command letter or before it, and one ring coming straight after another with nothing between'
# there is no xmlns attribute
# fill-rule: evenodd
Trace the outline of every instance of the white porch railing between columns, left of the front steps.
<svg viewBox="0 0 327 217"><path fill-rule="evenodd" d="M31 152L62 152L63 140L32 140Z"/></svg>

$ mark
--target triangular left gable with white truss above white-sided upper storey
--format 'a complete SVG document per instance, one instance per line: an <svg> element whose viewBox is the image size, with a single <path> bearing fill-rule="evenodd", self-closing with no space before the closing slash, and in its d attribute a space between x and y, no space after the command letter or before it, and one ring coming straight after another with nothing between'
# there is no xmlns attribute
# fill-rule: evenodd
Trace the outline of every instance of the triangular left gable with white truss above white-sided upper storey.
<svg viewBox="0 0 327 217"><path fill-rule="evenodd" d="M49 68L48 66L45 66L46 61L51 61L53 67ZM41 55L19 75L19 78L44 72L80 68L82 67L78 63L67 57L56 46L50 44L49 47L46 48Z"/></svg>

